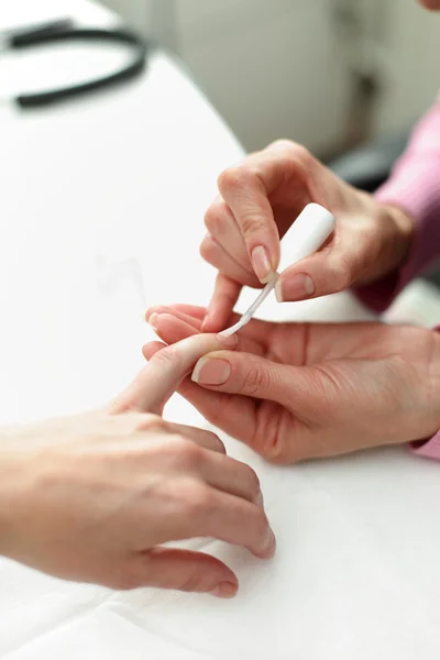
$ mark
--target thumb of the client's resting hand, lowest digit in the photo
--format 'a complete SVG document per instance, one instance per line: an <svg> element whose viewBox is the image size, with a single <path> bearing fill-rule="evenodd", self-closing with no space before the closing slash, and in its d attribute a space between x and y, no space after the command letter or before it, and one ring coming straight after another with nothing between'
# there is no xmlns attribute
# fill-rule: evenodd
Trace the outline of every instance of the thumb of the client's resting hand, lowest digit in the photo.
<svg viewBox="0 0 440 660"><path fill-rule="evenodd" d="M129 588L175 588L211 593L221 598L233 597L239 587L235 574L215 557L161 547L131 558L129 565L122 571L121 582Z"/></svg>

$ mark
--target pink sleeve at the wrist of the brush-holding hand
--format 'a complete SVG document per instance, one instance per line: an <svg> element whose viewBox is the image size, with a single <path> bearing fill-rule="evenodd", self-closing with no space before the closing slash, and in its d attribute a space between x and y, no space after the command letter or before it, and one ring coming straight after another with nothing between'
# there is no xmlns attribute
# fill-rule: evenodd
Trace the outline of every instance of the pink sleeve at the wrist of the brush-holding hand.
<svg viewBox="0 0 440 660"><path fill-rule="evenodd" d="M365 305L382 312L414 277L440 258L440 100L418 123L405 154L375 197L404 209L416 227L403 267L356 289Z"/></svg>

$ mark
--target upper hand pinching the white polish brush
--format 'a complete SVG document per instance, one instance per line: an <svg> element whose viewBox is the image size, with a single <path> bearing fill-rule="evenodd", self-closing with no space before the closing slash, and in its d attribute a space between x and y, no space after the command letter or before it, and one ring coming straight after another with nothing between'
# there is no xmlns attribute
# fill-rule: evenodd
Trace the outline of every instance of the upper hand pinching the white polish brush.
<svg viewBox="0 0 440 660"><path fill-rule="evenodd" d="M279 237L311 202L337 218L332 238L316 254L284 271L279 301L302 300L363 285L397 268L409 250L413 220L358 190L302 146L278 141L226 169L208 209L204 258L219 271L204 331L226 327L242 285L258 287L276 271Z"/></svg>

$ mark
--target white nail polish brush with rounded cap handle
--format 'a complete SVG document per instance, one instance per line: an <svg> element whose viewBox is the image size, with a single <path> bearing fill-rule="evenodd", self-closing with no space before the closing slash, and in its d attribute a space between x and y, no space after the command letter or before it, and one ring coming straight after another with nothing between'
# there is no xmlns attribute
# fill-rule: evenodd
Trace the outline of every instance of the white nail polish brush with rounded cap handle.
<svg viewBox="0 0 440 660"><path fill-rule="evenodd" d="M282 241L282 256L278 265L279 273L283 273L288 266L296 264L301 258L317 252L334 230L334 216L330 211L319 206L319 204L308 204ZM220 334L230 337L249 323L255 311L275 288L279 273L275 273L272 279L270 279L255 301L243 314L240 321L231 328L223 330Z"/></svg>

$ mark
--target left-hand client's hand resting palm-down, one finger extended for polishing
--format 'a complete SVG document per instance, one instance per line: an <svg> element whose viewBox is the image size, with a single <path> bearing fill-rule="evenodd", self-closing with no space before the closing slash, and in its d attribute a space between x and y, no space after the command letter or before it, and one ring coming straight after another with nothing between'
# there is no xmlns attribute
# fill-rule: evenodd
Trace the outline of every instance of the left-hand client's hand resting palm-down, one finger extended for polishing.
<svg viewBox="0 0 440 660"><path fill-rule="evenodd" d="M226 342L226 343L224 343ZM2 433L0 553L67 580L235 594L218 559L161 547L213 537L275 551L258 480L219 438L168 424L163 406L207 351L199 336L157 353L107 410Z"/></svg>

